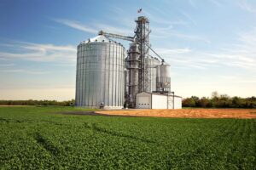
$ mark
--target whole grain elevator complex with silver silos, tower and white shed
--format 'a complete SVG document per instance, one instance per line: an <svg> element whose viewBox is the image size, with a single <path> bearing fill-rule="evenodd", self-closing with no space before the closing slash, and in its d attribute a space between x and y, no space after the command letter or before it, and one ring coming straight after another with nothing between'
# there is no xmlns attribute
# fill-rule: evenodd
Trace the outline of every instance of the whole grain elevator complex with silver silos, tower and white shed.
<svg viewBox="0 0 256 170"><path fill-rule="evenodd" d="M149 20L139 16L134 36L99 31L77 54L76 105L121 109L181 108L171 91L170 65L149 43ZM131 42L129 50L110 38ZM156 57L149 54L153 52Z"/></svg>

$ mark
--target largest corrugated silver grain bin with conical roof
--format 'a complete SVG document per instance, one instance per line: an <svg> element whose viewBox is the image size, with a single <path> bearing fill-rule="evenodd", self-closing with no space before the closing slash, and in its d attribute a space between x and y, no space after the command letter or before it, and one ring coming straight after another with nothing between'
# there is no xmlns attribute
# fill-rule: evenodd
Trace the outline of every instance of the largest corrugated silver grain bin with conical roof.
<svg viewBox="0 0 256 170"><path fill-rule="evenodd" d="M125 48L97 36L78 46L76 105L121 109L125 99Z"/></svg>

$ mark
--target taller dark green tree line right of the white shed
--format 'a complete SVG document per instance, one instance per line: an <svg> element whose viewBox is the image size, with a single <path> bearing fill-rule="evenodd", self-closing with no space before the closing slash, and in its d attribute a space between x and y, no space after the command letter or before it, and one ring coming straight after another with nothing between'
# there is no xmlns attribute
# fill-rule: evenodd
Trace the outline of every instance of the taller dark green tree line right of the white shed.
<svg viewBox="0 0 256 170"><path fill-rule="evenodd" d="M227 94L212 92L211 98L191 96L183 99L183 107L202 108L256 108L256 97L230 97Z"/></svg>

